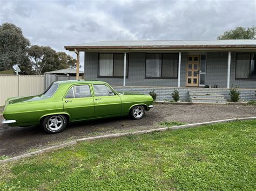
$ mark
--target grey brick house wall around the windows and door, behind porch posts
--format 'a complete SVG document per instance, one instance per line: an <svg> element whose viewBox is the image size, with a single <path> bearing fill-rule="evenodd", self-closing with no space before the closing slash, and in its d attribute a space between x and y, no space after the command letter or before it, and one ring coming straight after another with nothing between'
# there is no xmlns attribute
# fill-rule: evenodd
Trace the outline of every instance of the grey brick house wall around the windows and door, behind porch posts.
<svg viewBox="0 0 256 191"><path fill-rule="evenodd" d="M227 87L227 52L207 52L206 84ZM146 53L129 53L129 76L126 86L177 87L177 79L145 79ZM123 86L123 78L98 78L98 53L85 52L85 77L87 80L101 80L113 86ZM186 86L187 52L181 53L180 86ZM230 85L240 88L256 88L256 81L235 80L235 52L231 54Z"/></svg>

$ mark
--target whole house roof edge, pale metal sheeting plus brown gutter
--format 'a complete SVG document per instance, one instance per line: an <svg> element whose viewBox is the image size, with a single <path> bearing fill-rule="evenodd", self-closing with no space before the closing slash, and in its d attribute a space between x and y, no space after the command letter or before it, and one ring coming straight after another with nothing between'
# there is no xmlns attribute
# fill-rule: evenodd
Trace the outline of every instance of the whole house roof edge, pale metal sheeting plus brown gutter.
<svg viewBox="0 0 256 191"><path fill-rule="evenodd" d="M256 49L256 40L134 40L134 41L98 41L79 45L65 46L69 51L95 50L131 50L150 49Z"/></svg>

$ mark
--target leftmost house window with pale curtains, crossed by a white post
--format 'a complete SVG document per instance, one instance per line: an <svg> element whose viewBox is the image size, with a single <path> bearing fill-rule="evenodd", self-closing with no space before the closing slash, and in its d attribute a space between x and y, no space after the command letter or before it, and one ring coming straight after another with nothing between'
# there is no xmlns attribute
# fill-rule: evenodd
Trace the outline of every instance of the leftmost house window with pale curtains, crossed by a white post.
<svg viewBox="0 0 256 191"><path fill-rule="evenodd" d="M126 54L126 77L128 76L128 58L129 54ZM98 76L123 77L124 53L99 53Z"/></svg>

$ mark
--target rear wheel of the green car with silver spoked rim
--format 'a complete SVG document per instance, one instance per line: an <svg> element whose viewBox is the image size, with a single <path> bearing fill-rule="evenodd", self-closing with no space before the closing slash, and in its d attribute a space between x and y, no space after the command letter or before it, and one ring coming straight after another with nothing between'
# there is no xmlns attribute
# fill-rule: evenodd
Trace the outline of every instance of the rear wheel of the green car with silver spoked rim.
<svg viewBox="0 0 256 191"><path fill-rule="evenodd" d="M67 119L64 115L51 115L47 116L42 121L44 131L48 133L59 133L66 128Z"/></svg>

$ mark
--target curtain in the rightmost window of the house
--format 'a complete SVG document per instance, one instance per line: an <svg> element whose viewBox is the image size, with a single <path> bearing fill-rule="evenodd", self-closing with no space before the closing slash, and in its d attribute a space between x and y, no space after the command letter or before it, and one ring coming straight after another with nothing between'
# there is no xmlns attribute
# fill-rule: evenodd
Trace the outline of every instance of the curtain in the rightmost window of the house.
<svg viewBox="0 0 256 191"><path fill-rule="evenodd" d="M237 78L248 78L250 77L250 54L241 53L237 54Z"/></svg>

